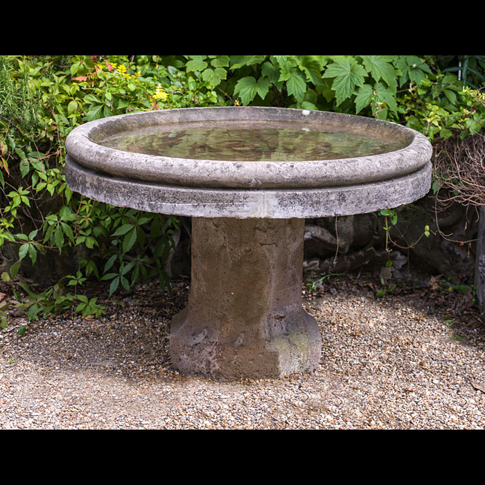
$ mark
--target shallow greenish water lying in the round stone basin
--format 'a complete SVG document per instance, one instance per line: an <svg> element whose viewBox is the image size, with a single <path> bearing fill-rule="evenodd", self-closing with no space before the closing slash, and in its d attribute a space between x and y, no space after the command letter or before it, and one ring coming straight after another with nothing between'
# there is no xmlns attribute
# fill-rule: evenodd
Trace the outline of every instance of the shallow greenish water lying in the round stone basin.
<svg viewBox="0 0 485 485"><path fill-rule="evenodd" d="M98 141L126 152L182 159L308 161L379 155L405 148L403 139L333 132L294 123L177 123L118 133Z"/></svg>

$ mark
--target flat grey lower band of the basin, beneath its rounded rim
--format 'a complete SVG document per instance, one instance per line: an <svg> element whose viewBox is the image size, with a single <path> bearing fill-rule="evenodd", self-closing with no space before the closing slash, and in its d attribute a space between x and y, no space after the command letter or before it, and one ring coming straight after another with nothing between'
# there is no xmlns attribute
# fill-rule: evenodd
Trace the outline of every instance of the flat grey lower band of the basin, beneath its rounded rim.
<svg viewBox="0 0 485 485"><path fill-rule="evenodd" d="M431 164L385 182L255 190L169 186L121 179L82 167L67 155L66 180L73 191L91 199L148 212L194 218L321 218L369 213L412 202L429 190Z"/></svg>

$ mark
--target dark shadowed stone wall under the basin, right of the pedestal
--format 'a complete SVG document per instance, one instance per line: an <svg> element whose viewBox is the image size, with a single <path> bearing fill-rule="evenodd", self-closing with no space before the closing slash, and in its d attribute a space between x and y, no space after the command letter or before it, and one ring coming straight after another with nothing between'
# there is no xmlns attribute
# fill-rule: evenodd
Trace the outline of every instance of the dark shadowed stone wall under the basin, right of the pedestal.
<svg viewBox="0 0 485 485"><path fill-rule="evenodd" d="M306 270L374 272L391 258L396 278L411 278L425 285L430 276L441 275L454 283L472 284L476 243L461 242L476 239L477 213L456 204L436 216L434 202L430 193L397 209L398 223L389 231L396 244L388 242L389 252L385 218L378 213L307 220ZM429 237L423 236L426 225Z"/></svg>

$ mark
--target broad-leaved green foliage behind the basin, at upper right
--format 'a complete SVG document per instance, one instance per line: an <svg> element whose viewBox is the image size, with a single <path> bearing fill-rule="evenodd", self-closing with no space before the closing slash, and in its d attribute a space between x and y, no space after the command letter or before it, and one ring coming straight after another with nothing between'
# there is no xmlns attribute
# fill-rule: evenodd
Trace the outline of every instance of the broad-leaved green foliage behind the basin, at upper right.
<svg viewBox="0 0 485 485"><path fill-rule="evenodd" d="M483 128L485 110L477 100L475 85L483 85L485 80L483 56L173 57L189 78L209 82L214 91L236 105L373 116L404 123L431 140L436 135L446 138L453 132L466 136Z"/></svg>

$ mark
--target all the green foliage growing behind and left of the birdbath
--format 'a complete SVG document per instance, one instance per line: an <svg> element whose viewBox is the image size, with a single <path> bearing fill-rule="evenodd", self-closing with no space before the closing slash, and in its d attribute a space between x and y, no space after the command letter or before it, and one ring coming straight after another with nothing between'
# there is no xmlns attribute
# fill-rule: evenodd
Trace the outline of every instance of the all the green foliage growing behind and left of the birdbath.
<svg viewBox="0 0 485 485"><path fill-rule="evenodd" d="M242 104L373 116L430 140L466 136L484 126L484 68L483 56L0 55L0 251L15 254L2 279L29 319L67 310L99 315L103 308L78 291L89 278L106 281L110 295L140 278L170 288L164 265L176 218L115 208L67 187L64 140L81 123ZM395 224L395 212L382 215ZM75 258L78 268L35 292L17 272L52 252Z"/></svg>

